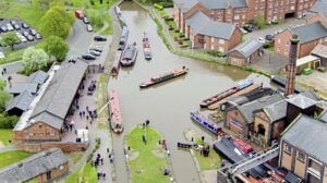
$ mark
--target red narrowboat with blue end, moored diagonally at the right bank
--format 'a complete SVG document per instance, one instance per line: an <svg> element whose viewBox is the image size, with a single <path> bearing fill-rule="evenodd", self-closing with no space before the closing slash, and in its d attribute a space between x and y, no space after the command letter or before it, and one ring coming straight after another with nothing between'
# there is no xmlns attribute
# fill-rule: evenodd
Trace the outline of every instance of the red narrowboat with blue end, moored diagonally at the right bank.
<svg viewBox="0 0 327 183"><path fill-rule="evenodd" d="M235 86L233 86L233 87L231 87L231 88L229 88L229 89L227 89L222 93L219 93L219 94L217 94L217 95L215 95L210 98L207 98L207 99L203 100L199 106L202 108L206 108L206 107L208 107L208 106L210 106L210 105L213 105L213 103L215 103L215 102L217 102L217 101L219 101L219 100L221 100L221 99L223 99L228 96L231 96L231 95L246 88L247 86L251 86L252 84L253 84L253 80L241 81Z"/></svg>

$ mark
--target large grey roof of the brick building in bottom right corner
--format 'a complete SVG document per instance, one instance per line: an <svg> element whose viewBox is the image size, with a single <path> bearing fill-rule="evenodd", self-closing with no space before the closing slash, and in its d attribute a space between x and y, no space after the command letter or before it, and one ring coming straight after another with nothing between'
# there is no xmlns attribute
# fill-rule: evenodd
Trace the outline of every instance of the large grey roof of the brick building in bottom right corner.
<svg viewBox="0 0 327 183"><path fill-rule="evenodd" d="M327 164L327 123L301 114L282 133L282 141Z"/></svg>

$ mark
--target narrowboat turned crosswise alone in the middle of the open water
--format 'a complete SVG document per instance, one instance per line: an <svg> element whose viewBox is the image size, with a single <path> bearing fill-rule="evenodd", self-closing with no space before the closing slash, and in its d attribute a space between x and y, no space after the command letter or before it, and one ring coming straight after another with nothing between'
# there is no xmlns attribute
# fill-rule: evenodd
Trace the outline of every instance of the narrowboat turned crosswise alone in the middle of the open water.
<svg viewBox="0 0 327 183"><path fill-rule="evenodd" d="M161 83L161 82L181 76L183 74L186 74L187 71L189 71L189 69L186 66L183 66L181 69L160 74L158 76L152 77L149 81L143 82L140 85L140 87L145 88L145 87L148 87L148 86L152 86L152 85L155 85L155 84L158 84L158 83Z"/></svg>

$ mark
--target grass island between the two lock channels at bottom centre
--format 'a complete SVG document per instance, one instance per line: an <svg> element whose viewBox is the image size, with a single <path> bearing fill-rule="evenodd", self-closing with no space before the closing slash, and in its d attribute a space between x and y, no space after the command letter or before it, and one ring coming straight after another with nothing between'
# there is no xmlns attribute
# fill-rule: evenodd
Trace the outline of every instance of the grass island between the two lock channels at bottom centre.
<svg viewBox="0 0 327 183"><path fill-rule="evenodd" d="M147 144L142 142L142 135L146 134ZM153 150L158 150L158 141L160 139L158 132L152 127L143 130L141 125L134 127L126 136L126 143L132 151L138 151L138 157L130 160L132 182L142 183L165 183L169 182L169 176L161 173L161 169L167 167L166 158L159 158L153 155Z"/></svg>

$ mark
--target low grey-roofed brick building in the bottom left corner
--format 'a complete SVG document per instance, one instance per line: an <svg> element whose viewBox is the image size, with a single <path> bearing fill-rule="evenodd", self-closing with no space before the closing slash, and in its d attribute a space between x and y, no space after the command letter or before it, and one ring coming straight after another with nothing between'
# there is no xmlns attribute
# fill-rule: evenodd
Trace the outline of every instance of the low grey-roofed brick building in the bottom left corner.
<svg viewBox="0 0 327 183"><path fill-rule="evenodd" d="M51 148L0 169L1 182L50 182L70 170L70 161L58 148Z"/></svg>

